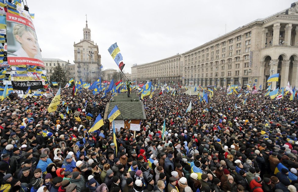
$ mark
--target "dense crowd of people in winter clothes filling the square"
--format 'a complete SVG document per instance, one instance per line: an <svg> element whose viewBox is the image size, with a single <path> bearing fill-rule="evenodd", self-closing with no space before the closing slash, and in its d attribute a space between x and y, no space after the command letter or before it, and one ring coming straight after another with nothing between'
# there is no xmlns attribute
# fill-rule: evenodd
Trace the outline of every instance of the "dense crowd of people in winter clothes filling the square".
<svg viewBox="0 0 298 192"><path fill-rule="evenodd" d="M206 103L176 91L144 97L141 130L134 137L121 128L116 143L108 120L88 132L110 93L83 89L73 98L63 88L55 113L47 112L51 97L3 100L0 191L297 191L297 98L259 91L243 104L218 90Z"/></svg>

